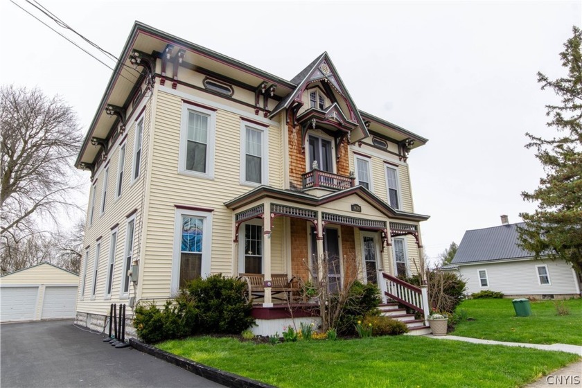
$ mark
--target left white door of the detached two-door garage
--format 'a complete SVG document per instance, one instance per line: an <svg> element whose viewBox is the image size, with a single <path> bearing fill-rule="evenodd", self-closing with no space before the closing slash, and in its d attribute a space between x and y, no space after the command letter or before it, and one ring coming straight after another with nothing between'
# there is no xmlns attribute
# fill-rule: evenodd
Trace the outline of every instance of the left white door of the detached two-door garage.
<svg viewBox="0 0 582 388"><path fill-rule="evenodd" d="M38 287L0 287L0 321L35 319Z"/></svg>

